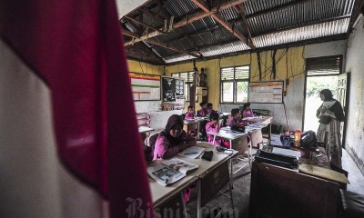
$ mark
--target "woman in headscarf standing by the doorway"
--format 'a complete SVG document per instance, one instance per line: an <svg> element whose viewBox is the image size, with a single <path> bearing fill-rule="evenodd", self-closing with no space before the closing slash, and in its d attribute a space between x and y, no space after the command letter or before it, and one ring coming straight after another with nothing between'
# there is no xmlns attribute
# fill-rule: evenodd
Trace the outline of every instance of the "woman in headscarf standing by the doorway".
<svg viewBox="0 0 364 218"><path fill-rule="evenodd" d="M316 113L319 118L317 140L324 144L330 163L341 168L340 122L345 119L344 111L339 101L332 98L329 89L323 89L319 93L319 97L323 103Z"/></svg>

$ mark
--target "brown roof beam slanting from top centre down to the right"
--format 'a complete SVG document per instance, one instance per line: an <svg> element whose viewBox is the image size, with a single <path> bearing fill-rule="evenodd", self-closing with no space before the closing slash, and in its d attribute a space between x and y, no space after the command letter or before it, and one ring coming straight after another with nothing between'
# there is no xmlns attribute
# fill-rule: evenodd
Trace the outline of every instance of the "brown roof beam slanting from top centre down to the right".
<svg viewBox="0 0 364 218"><path fill-rule="evenodd" d="M205 12L210 12L210 9L208 8L208 5L206 4L206 2L202 1L202 0L191 0L193 3L195 3L199 8L201 8L202 10L204 10ZM223 25L228 32L230 32L231 34L235 35L240 41L242 41L243 43L245 43L246 45L248 45L248 47L255 49L256 46L253 45L251 42L248 41L247 37L242 35L240 32L236 31L233 27L233 25L229 24L227 22L227 20L225 20L224 17L222 17L221 15L219 15L218 13L212 14L210 15L214 20L216 20L218 23L220 23L220 25Z"/></svg>

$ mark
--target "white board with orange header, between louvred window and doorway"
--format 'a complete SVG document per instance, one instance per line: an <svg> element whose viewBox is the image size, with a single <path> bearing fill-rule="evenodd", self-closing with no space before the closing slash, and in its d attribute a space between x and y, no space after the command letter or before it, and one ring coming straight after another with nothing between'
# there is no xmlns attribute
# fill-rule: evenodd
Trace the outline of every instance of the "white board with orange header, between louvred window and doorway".
<svg viewBox="0 0 364 218"><path fill-rule="evenodd" d="M283 103L283 81L266 81L249 83L248 102Z"/></svg>

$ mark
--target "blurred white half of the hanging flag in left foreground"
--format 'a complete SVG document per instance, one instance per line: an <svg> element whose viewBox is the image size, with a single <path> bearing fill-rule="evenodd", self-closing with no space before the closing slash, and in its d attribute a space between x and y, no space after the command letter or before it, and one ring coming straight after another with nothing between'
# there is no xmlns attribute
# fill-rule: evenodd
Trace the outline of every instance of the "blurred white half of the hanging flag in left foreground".
<svg viewBox="0 0 364 218"><path fill-rule="evenodd" d="M56 157L50 92L0 41L0 217L102 217Z"/></svg>

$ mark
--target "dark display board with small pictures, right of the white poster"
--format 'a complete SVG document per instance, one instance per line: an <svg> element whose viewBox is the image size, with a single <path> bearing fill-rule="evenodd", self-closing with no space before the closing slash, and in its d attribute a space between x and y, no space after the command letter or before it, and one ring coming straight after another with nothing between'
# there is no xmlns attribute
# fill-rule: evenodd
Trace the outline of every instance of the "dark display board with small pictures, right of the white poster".
<svg viewBox="0 0 364 218"><path fill-rule="evenodd" d="M177 77L162 76L163 102L176 102L183 99L185 94L185 80Z"/></svg>

